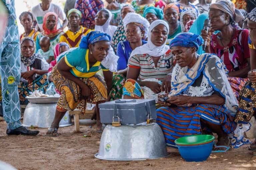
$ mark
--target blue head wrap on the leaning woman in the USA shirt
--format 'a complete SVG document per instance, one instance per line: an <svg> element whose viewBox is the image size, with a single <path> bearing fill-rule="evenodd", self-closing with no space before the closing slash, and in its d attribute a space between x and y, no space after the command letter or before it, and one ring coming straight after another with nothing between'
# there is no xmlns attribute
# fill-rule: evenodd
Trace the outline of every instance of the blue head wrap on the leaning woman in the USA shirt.
<svg viewBox="0 0 256 170"><path fill-rule="evenodd" d="M110 41L110 40L111 38L107 33L103 33L100 31L91 31L81 39L81 42L79 43L79 47L88 49L89 44L93 44L99 41Z"/></svg>

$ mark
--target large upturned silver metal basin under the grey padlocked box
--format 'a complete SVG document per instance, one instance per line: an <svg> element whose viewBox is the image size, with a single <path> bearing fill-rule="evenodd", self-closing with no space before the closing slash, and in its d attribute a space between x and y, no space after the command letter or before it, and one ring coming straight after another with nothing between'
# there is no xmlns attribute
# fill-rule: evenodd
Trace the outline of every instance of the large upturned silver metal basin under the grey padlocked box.
<svg viewBox="0 0 256 170"><path fill-rule="evenodd" d="M100 139L99 153L102 160L132 161L157 159L169 156L162 129L150 125L107 125Z"/></svg>

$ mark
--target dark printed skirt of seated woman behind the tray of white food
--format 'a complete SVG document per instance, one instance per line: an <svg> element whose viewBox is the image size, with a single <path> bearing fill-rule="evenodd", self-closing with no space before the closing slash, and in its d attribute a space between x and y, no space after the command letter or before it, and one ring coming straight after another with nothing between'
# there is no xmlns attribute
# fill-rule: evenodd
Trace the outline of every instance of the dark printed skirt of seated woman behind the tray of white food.
<svg viewBox="0 0 256 170"><path fill-rule="evenodd" d="M27 105L28 100L26 97L33 93L35 90L42 91L45 94L47 87L47 74L41 75L31 83L21 81L18 86L20 104Z"/></svg>

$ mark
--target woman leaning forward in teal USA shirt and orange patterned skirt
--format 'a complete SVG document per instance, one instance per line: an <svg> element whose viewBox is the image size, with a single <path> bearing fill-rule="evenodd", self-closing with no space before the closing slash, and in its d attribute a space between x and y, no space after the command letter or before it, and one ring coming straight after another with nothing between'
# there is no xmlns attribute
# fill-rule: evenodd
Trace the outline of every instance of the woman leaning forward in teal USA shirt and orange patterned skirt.
<svg viewBox="0 0 256 170"><path fill-rule="evenodd" d="M96 130L101 130L98 104L107 100L113 77L101 61L108 55L110 39L106 33L92 31L82 38L79 47L61 54L58 64L52 69L52 80L61 96L47 135L57 136L59 122L66 111L79 109L84 113L87 103L96 103ZM100 69L104 79L96 74Z"/></svg>

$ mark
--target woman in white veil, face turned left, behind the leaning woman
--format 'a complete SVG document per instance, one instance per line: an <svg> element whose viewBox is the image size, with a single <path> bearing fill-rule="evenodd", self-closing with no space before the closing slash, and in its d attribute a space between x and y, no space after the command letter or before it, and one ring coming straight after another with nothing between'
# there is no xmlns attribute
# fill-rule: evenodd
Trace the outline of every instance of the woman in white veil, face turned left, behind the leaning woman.
<svg viewBox="0 0 256 170"><path fill-rule="evenodd" d="M112 13L109 10L100 10L95 17L95 31L107 33L112 39L117 27L110 25L111 18Z"/></svg>

